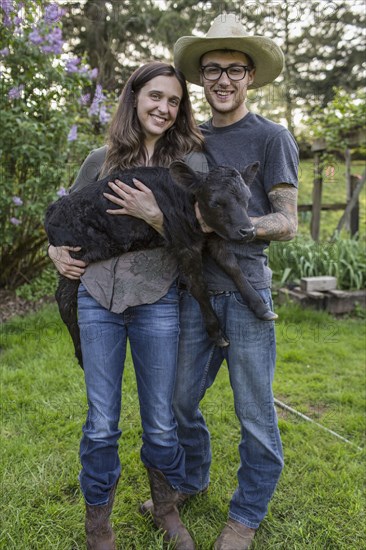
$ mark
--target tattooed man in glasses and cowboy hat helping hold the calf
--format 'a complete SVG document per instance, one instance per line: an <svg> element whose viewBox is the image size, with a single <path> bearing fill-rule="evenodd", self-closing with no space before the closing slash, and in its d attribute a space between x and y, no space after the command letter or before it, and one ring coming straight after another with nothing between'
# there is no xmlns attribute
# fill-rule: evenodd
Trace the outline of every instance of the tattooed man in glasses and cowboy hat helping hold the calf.
<svg viewBox="0 0 366 550"><path fill-rule="evenodd" d="M203 86L211 106L212 118L201 126L209 165L241 170L260 161L249 205L256 238L232 248L248 280L271 303L271 271L264 250L269 241L290 240L296 234L298 148L283 126L249 112L245 100L248 88L260 88L280 74L282 51L268 38L248 36L236 16L228 14L217 17L205 37L180 38L174 61L189 82ZM210 435L199 403L226 360L241 426L241 463L229 519L214 548L243 550L267 513L283 468L272 393L274 324L255 317L231 279L209 258L205 277L230 346L212 344L197 302L183 290L174 398L178 435L186 452L181 500L209 484Z"/></svg>

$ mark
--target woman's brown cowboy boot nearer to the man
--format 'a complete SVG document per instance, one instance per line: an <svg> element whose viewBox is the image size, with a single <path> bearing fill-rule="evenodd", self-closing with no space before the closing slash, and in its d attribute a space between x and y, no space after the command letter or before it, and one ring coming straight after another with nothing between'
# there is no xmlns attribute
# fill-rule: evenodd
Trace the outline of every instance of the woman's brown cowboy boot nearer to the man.
<svg viewBox="0 0 366 550"><path fill-rule="evenodd" d="M159 470L147 468L153 501L155 525L165 531L165 542L175 542L176 550L195 550L195 544L183 525L177 508L179 493L173 489Z"/></svg>

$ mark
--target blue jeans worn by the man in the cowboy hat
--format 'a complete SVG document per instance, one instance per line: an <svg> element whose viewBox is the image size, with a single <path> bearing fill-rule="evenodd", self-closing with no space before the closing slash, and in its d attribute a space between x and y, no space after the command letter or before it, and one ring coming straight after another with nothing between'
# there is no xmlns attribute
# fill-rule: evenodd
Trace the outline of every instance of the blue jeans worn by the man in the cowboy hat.
<svg viewBox="0 0 366 550"><path fill-rule="evenodd" d="M270 290L258 291L272 308ZM180 490L196 493L209 483L210 434L199 403L226 359L241 426L238 487L230 518L256 529L283 468L283 454L272 381L276 344L274 324L257 319L237 292L211 296L230 346L217 348L208 338L198 303L182 291L180 344L174 395L179 441L186 454L186 481Z"/></svg>

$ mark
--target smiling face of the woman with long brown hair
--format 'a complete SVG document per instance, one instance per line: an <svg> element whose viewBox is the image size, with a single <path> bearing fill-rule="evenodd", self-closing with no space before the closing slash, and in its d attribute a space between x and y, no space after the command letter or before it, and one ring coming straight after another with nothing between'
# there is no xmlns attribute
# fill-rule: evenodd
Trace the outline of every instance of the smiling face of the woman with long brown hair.
<svg viewBox="0 0 366 550"><path fill-rule="evenodd" d="M159 139L173 126L183 91L175 76L157 76L137 95L137 116L147 141Z"/></svg>

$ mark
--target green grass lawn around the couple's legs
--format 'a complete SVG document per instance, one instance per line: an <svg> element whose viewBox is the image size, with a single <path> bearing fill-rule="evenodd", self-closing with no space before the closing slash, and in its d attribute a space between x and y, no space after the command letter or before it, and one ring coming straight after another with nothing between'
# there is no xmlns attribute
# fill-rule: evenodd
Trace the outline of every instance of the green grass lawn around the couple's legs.
<svg viewBox="0 0 366 550"><path fill-rule="evenodd" d="M365 324L326 313L278 308L275 395L349 439L278 409L286 466L254 550L363 548ZM1 549L85 547L77 475L86 413L82 371L55 306L0 326ZM212 433L210 491L184 508L198 550L225 523L236 485L239 428L223 367L203 409ZM162 536L138 505L149 496L140 462L141 427L130 359L124 378L123 465L113 522L119 548L158 550Z"/></svg>

